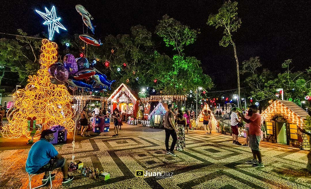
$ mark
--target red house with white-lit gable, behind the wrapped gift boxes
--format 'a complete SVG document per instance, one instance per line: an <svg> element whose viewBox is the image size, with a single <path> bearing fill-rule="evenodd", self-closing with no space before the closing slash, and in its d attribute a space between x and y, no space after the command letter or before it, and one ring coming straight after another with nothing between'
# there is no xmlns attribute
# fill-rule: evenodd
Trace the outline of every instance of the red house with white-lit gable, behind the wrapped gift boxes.
<svg viewBox="0 0 311 189"><path fill-rule="evenodd" d="M117 108L120 113L126 116L135 117L138 110L139 97L126 84L121 85L110 95L108 101L111 102L111 111Z"/></svg>

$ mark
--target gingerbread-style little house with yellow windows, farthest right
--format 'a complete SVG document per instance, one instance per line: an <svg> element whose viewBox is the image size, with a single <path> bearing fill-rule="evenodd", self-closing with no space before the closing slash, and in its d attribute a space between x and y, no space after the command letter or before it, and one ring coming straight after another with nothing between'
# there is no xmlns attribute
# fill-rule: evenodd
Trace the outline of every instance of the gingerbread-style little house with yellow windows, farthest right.
<svg viewBox="0 0 311 189"><path fill-rule="evenodd" d="M265 126L264 141L287 144L299 147L297 125L305 128L304 121L308 112L291 101L276 100L261 113L261 120ZM309 148L306 135L302 135L303 148Z"/></svg>

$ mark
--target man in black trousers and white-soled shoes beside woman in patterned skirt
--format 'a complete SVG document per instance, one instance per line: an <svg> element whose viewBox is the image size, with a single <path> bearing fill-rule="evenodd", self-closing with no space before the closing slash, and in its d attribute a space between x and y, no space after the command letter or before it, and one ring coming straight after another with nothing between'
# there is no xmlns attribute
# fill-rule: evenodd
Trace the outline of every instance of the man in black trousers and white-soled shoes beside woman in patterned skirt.
<svg viewBox="0 0 311 189"><path fill-rule="evenodd" d="M176 156L173 152L176 141L177 141L177 129L175 127L174 122L174 115L172 111L172 105L169 104L168 106L169 111L165 113L164 116L164 129L165 129L165 147L166 147L166 154L171 154L173 156ZM171 148L169 149L169 136L172 136L173 142L171 144Z"/></svg>

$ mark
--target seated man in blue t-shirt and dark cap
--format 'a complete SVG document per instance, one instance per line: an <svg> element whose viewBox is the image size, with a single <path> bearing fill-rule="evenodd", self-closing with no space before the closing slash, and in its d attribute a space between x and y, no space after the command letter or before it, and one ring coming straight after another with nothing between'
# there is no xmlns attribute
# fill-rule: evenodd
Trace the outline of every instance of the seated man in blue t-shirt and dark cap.
<svg viewBox="0 0 311 189"><path fill-rule="evenodd" d="M26 161L26 172L39 174L44 172L42 181L49 179L49 171L61 167L63 172L63 184L72 181L73 176L68 175L68 164L65 158L58 154L55 147L50 143L54 140L54 133L49 129L41 132L40 140L35 142L29 150ZM51 174L55 177L55 173Z"/></svg>

